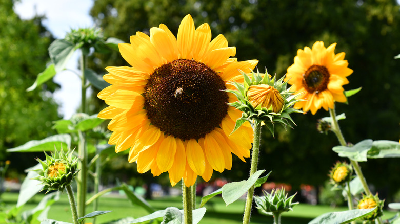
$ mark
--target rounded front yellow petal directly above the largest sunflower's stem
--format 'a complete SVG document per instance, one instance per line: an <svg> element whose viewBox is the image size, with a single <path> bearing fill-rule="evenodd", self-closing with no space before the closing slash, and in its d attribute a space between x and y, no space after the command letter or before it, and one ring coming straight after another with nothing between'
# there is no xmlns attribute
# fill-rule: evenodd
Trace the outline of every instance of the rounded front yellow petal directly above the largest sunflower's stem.
<svg viewBox="0 0 400 224"><path fill-rule="evenodd" d="M204 153L202 147L200 147L194 139L188 141L188 145L186 146L186 159L193 172L199 176L204 173L206 168Z"/></svg>

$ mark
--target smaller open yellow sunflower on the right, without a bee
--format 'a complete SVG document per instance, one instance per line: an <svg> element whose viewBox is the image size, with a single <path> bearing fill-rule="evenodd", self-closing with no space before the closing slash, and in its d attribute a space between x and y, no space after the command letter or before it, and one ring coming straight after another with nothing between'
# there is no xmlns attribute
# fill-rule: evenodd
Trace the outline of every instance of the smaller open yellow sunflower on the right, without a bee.
<svg viewBox="0 0 400 224"><path fill-rule="evenodd" d="M349 83L346 77L353 70L347 67L344 52L334 53L335 47L336 43L325 48L324 42L317 41L312 49L305 47L297 51L285 78L292 85L291 91L304 92L299 98L306 101L297 102L295 109L311 110L314 115L321 107L333 109L334 101L347 101L342 85Z"/></svg>

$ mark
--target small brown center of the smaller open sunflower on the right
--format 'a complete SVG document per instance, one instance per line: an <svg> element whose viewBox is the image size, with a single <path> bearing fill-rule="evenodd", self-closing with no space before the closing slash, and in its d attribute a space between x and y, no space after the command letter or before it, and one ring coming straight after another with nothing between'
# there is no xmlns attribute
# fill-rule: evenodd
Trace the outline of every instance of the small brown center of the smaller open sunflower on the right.
<svg viewBox="0 0 400 224"><path fill-rule="evenodd" d="M325 66L314 64L303 74L303 86L307 92L318 94L327 89L329 77L329 71Z"/></svg>

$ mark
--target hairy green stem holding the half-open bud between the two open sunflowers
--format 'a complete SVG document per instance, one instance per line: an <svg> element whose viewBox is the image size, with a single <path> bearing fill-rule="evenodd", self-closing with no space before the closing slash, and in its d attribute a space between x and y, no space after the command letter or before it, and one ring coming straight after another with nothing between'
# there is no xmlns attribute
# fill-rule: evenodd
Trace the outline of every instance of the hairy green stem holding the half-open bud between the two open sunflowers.
<svg viewBox="0 0 400 224"><path fill-rule="evenodd" d="M261 123L253 121L251 126L253 127L254 139L253 139L253 150L252 150L253 152L251 156L250 176L257 171L259 143L261 137ZM243 224L250 223L250 214L251 214L251 207L253 205L253 196L254 196L254 185L249 189L247 193L245 214L243 216Z"/></svg>

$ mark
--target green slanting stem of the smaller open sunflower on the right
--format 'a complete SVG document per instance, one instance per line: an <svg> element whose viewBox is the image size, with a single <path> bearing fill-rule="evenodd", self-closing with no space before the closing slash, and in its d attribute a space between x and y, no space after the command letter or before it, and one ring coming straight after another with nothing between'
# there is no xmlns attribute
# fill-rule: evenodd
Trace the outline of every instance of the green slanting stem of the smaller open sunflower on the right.
<svg viewBox="0 0 400 224"><path fill-rule="evenodd" d="M329 114L331 115L331 118L332 118L331 130L333 131L333 133L335 133L335 135L336 135L337 139L339 140L339 142L341 143L341 145L346 146L347 144L346 144L345 138L343 137L341 128L339 127L339 123L337 122L337 119L336 119L335 109L329 108ZM353 165L355 174L357 174L357 176L359 177L359 180L361 181L361 184L363 185L364 193L366 195L372 194L371 191L369 190L369 187L368 187L367 181L365 180L363 172L361 171L361 167L358 165L358 162L354 161L350 158L349 158L349 160L351 162L351 165ZM381 217L378 217L376 220L378 221L379 224L382 223Z"/></svg>

